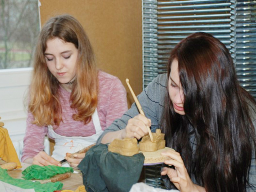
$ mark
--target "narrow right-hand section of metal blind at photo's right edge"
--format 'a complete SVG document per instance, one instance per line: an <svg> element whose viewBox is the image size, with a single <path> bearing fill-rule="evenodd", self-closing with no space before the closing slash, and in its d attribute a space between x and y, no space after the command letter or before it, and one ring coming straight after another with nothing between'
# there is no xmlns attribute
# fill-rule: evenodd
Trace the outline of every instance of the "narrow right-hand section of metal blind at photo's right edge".
<svg viewBox="0 0 256 192"><path fill-rule="evenodd" d="M256 1L230 2L230 52L240 84L256 99Z"/></svg>

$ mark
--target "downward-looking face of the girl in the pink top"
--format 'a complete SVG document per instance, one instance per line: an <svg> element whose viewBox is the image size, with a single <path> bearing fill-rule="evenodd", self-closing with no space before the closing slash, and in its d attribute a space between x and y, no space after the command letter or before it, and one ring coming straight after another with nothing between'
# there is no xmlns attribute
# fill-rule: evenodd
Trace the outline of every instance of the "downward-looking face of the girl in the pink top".
<svg viewBox="0 0 256 192"><path fill-rule="evenodd" d="M76 49L73 43L65 42L57 37L49 39L46 45L47 48L44 56L47 67L52 75L66 89L66 83L76 78L78 49Z"/></svg>

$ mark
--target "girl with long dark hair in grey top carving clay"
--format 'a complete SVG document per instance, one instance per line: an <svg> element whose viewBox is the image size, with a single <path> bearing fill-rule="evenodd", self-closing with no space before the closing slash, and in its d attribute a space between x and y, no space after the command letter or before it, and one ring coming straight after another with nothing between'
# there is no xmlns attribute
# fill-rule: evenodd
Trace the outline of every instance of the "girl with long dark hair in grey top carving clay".
<svg viewBox="0 0 256 192"><path fill-rule="evenodd" d="M161 175L180 191L256 191L256 102L238 83L228 49L212 35L197 32L172 50L167 74L138 96L100 136L140 139L161 127L169 150ZM114 131L114 132L113 132Z"/></svg>

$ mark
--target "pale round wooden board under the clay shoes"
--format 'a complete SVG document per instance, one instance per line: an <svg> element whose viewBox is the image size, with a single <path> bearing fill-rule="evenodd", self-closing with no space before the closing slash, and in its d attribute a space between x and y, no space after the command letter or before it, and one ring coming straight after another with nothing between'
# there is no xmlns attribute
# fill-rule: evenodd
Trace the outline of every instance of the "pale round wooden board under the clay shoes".
<svg viewBox="0 0 256 192"><path fill-rule="evenodd" d="M157 151L139 151L139 153L143 153L145 156L144 165L155 165L155 164L162 164L164 160L169 159L167 156L162 156L161 153L163 151L170 150L172 148L165 147L163 149L159 149Z"/></svg>

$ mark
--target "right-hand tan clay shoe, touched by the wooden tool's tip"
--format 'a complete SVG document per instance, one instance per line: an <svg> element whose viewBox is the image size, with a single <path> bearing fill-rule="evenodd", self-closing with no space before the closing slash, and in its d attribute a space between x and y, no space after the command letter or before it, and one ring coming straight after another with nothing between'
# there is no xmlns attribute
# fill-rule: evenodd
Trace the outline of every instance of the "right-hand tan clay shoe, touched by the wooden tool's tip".
<svg viewBox="0 0 256 192"><path fill-rule="evenodd" d="M157 151L165 147L164 133L161 133L160 129L156 129L153 135L153 142L150 140L149 135L144 135L139 142L140 151Z"/></svg>

